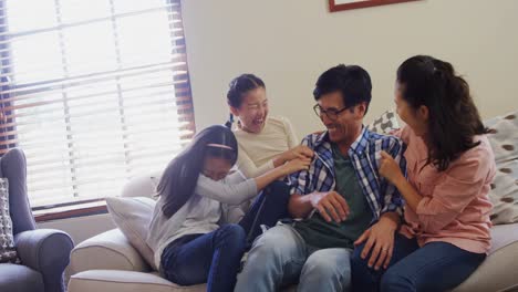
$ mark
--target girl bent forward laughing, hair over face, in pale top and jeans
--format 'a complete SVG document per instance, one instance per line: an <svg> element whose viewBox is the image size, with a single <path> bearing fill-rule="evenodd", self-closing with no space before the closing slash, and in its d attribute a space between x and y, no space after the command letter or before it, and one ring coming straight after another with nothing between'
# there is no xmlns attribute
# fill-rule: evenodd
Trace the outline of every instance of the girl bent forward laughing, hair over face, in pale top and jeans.
<svg viewBox="0 0 518 292"><path fill-rule="evenodd" d="M239 171L229 175L238 153L230 129L210 126L165 169L147 243L167 280L180 285L207 282L207 291L232 291L247 243L259 234L260 225L274 225L286 211L274 197L288 194L288 187L274 181L310 164L294 159L245 179ZM225 225L228 206L256 197L268 185L274 191L263 191L259 198L272 197L268 200L272 206L265 210L252 206L239 223Z"/></svg>

